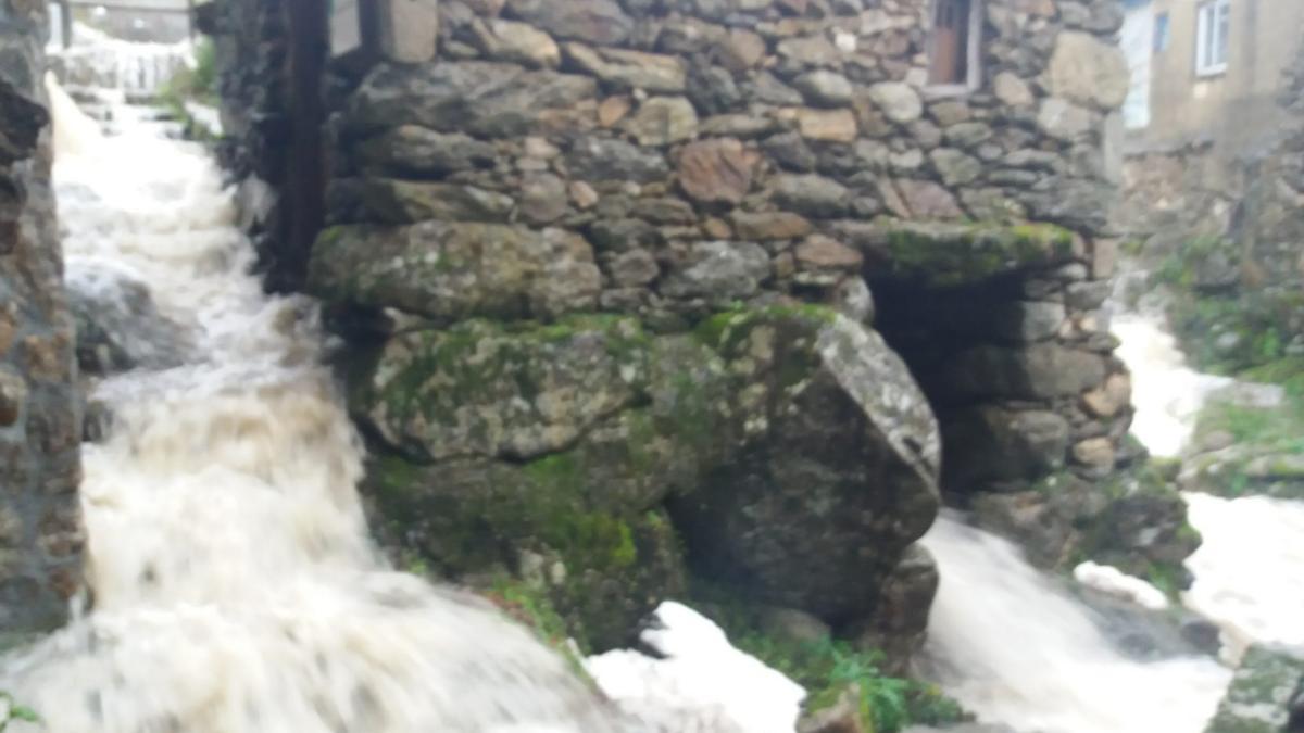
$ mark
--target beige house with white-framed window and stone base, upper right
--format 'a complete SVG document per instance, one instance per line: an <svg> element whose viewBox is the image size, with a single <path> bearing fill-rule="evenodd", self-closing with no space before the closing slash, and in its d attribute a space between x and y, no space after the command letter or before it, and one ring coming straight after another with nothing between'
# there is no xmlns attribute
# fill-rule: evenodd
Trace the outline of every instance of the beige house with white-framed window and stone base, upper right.
<svg viewBox="0 0 1304 733"><path fill-rule="evenodd" d="M1283 312L1304 277L1301 29L1299 3L1136 0L1123 31L1133 83L1118 228L1154 257L1213 247L1197 280L1283 288ZM1284 322L1299 333L1299 316Z"/></svg>

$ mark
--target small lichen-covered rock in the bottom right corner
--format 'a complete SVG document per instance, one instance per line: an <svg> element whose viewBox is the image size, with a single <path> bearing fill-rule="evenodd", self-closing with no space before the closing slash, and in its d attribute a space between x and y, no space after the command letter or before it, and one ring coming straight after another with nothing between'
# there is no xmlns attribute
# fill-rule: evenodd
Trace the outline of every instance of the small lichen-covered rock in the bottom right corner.
<svg viewBox="0 0 1304 733"><path fill-rule="evenodd" d="M1286 733L1304 726L1304 650L1251 647L1205 733Z"/></svg>

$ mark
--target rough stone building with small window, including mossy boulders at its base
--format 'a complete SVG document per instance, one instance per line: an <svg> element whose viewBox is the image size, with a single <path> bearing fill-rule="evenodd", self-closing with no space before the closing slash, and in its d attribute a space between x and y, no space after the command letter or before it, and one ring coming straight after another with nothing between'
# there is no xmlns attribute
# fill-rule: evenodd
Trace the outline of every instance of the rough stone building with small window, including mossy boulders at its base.
<svg viewBox="0 0 1304 733"><path fill-rule="evenodd" d="M265 261L349 339L382 522L439 571L536 578L605 646L687 565L900 657L939 489L1136 459L1114 0L335 10L205 14L228 59L299 59L228 67L232 159L257 228L325 224ZM321 176L267 170L322 87Z"/></svg>

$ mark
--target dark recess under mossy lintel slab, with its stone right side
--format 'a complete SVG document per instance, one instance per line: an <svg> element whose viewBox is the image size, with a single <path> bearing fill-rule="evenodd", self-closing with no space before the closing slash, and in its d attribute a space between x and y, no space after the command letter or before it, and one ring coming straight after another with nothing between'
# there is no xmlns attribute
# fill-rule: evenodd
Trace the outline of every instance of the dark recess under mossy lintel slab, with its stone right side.
<svg viewBox="0 0 1304 733"><path fill-rule="evenodd" d="M941 426L949 503L1064 468L1088 477L1114 468L1129 408L1125 393L1103 385L1123 368L1095 312L1102 286L1082 278L1071 263L952 287L871 282L876 327Z"/></svg>

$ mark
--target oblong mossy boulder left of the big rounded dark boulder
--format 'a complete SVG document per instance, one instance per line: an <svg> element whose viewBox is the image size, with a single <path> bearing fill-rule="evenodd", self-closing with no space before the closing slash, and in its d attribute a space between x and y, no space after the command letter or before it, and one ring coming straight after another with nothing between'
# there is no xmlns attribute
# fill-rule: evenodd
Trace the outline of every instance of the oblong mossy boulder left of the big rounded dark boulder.
<svg viewBox="0 0 1304 733"><path fill-rule="evenodd" d="M647 391L636 321L464 321L390 338L351 389L353 411L416 460L532 459L562 450Z"/></svg>

